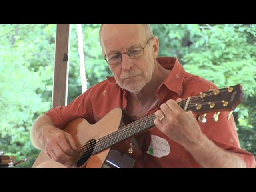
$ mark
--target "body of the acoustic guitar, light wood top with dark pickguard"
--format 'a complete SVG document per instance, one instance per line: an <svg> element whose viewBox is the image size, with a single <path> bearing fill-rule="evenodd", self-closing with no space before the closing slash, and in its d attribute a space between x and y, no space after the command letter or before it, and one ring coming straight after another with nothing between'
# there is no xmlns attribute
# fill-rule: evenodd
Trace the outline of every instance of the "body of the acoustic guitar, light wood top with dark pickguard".
<svg viewBox="0 0 256 192"><path fill-rule="evenodd" d="M76 146L92 146L103 136L118 130L118 128L134 121L121 108L111 110L96 124L89 124L83 118L76 118L64 127L64 131L71 134ZM132 144L131 139L124 140L111 148L97 154L92 154L93 147L84 148L82 153L72 158L69 168L132 168L136 158L141 154ZM52 161L43 151L34 162L32 168L53 167L65 168L67 166Z"/></svg>

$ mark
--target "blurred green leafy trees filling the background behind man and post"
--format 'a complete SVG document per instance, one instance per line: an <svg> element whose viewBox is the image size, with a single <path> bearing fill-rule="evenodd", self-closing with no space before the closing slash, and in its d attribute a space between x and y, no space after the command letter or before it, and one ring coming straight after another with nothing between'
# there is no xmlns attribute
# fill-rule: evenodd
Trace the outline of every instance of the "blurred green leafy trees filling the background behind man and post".
<svg viewBox="0 0 256 192"><path fill-rule="evenodd" d="M159 56L178 57L187 72L220 88L242 84L234 111L241 147L256 156L256 24L152 24ZM88 88L112 75L101 53L100 24L83 24ZM0 24L0 151L31 157L34 120L51 108L56 24ZM68 103L82 93L76 25L71 25Z"/></svg>

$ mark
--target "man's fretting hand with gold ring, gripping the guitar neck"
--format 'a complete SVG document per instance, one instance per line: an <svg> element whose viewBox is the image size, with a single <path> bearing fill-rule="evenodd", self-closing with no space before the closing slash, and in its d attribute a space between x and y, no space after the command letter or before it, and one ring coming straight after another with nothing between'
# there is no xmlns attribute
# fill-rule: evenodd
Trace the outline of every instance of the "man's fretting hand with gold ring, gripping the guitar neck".
<svg viewBox="0 0 256 192"><path fill-rule="evenodd" d="M177 102L182 99L178 98ZM185 148L197 146L204 138L198 122L191 111L186 112L170 99L157 110L154 123L158 129ZM164 116L164 118L162 118ZM160 119L162 120L160 121Z"/></svg>

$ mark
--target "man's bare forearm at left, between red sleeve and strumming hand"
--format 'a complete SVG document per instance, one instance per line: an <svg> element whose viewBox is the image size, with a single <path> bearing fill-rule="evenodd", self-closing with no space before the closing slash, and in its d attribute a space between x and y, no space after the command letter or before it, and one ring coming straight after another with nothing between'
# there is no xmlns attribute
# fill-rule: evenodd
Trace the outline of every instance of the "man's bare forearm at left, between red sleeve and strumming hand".
<svg viewBox="0 0 256 192"><path fill-rule="evenodd" d="M42 130L48 126L54 126L54 123L45 114L41 115L32 126L30 131L30 138L32 144L38 149L42 149L40 143L40 140L42 139Z"/></svg>

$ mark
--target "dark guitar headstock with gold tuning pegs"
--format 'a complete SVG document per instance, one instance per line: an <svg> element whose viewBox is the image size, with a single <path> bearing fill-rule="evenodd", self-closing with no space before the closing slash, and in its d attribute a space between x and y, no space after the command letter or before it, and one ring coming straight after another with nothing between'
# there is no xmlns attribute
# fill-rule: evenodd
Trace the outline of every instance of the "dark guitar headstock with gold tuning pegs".
<svg viewBox="0 0 256 192"><path fill-rule="evenodd" d="M242 85L237 84L218 90L209 90L207 92L201 92L197 96L188 97L186 100L182 100L178 104L184 108L184 110L191 110L201 115L201 122L205 121L207 112L216 112L214 114L214 120L218 120L218 114L220 111L230 111L230 118L233 110L242 102L244 92Z"/></svg>

